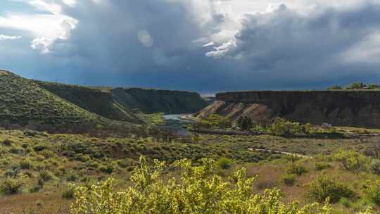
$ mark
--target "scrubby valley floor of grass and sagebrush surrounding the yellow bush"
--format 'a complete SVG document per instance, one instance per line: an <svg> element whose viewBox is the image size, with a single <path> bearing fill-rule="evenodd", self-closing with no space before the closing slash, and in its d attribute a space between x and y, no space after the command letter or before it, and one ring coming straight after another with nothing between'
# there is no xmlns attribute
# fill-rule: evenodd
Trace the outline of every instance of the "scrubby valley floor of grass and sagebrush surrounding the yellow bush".
<svg viewBox="0 0 380 214"><path fill-rule="evenodd" d="M117 187L127 187L139 156L172 163L189 158L217 160L215 173L229 177L245 167L248 176L258 176L253 191L278 187L284 201L305 197L310 183L319 175L331 175L355 191L355 199L334 204L335 213L355 213L367 206L375 209L362 189L367 180L379 180L369 167L351 172L343 167L336 153L357 151L367 156L368 164L380 151L379 138L308 139L262 136L196 135L170 142L151 137L99 138L75 134L46 134L32 131L0 130L0 213L68 213L72 203L69 183L91 185L113 176ZM312 158L297 158L267 150L296 153ZM225 163L224 163L225 162ZM293 184L284 183L293 165L305 172L293 176ZM322 165L324 167L318 167ZM291 176L291 177L292 177ZM20 182L17 192L4 190L6 180Z"/></svg>

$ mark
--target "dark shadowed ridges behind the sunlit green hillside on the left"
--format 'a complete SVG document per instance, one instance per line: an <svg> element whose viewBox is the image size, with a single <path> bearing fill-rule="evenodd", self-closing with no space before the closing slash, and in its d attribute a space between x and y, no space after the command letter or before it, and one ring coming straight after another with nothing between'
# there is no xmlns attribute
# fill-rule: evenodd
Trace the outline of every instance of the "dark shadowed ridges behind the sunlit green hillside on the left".
<svg viewBox="0 0 380 214"><path fill-rule="evenodd" d="M195 113L208 105L196 92L144 88L83 87L34 80L40 87L112 120L142 122L135 113Z"/></svg>

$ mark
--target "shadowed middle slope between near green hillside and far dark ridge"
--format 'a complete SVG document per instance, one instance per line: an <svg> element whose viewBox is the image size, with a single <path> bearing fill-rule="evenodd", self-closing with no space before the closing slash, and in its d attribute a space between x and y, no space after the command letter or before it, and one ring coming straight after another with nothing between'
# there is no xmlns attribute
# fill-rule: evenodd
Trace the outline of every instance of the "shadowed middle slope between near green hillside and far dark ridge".
<svg viewBox="0 0 380 214"><path fill-rule="evenodd" d="M40 87L89 112L96 113L111 120L141 122L136 115L129 111L127 106L122 106L115 101L109 89L96 89L55 82L35 82L39 84Z"/></svg>

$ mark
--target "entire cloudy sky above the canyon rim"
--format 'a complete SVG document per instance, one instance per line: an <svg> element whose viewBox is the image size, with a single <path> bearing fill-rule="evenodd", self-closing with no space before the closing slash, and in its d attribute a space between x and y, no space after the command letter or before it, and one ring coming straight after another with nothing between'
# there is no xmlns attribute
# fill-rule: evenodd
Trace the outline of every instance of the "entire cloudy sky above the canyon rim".
<svg viewBox="0 0 380 214"><path fill-rule="evenodd" d="M380 84L380 0L1 0L0 68L201 94Z"/></svg>

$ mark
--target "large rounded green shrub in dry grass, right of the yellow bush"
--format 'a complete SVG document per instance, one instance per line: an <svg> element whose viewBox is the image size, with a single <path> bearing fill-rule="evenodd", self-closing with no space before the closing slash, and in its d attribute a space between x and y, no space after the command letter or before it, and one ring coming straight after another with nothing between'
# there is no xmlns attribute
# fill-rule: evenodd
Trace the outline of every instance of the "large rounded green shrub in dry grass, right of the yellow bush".
<svg viewBox="0 0 380 214"><path fill-rule="evenodd" d="M343 197L347 199L353 198L355 192L345 184L338 182L334 177L320 175L310 184L307 195L315 201L323 202L329 198L332 203L336 203Z"/></svg>

